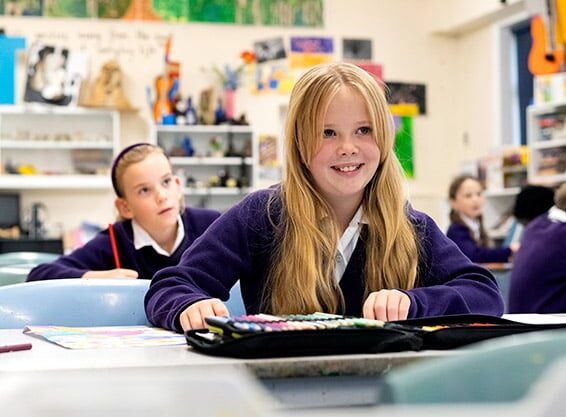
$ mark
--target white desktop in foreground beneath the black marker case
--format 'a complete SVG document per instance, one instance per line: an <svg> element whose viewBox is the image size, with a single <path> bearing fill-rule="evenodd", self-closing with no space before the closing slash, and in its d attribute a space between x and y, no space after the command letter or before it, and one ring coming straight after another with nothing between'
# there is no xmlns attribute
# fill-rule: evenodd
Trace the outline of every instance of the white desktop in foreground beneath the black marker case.
<svg viewBox="0 0 566 417"><path fill-rule="evenodd" d="M0 330L0 345L32 343L31 350L0 354L0 371L91 369L118 367L191 366L249 368L259 378L379 375L417 360L458 354L457 351L395 352L307 356L271 359L234 359L203 355L188 346L152 346L71 350L21 330Z"/></svg>

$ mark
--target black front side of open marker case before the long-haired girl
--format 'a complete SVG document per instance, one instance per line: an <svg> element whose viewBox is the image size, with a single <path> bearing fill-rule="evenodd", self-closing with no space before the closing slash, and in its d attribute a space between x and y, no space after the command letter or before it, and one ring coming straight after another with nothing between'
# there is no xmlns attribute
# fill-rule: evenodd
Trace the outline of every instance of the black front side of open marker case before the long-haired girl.
<svg viewBox="0 0 566 417"><path fill-rule="evenodd" d="M414 332L388 328L292 330L222 336L208 330L185 332L195 350L214 356L270 358L420 350Z"/></svg>

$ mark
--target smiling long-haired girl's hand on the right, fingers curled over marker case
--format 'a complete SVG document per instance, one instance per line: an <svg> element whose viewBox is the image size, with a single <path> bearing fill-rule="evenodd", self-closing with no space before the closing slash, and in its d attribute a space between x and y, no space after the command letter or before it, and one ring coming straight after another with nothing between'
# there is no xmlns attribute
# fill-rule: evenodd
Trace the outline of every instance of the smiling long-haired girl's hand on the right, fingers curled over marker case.
<svg viewBox="0 0 566 417"><path fill-rule="evenodd" d="M399 290L372 292L363 306L364 318L383 321L405 320L410 305L409 296Z"/></svg>

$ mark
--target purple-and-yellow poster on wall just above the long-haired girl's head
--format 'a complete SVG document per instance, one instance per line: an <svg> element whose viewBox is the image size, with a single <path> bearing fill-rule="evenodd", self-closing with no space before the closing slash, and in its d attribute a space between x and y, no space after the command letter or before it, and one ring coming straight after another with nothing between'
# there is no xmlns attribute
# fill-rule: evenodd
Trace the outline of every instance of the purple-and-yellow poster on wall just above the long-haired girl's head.
<svg viewBox="0 0 566 417"><path fill-rule="evenodd" d="M332 61L332 38L291 37L291 68L308 68Z"/></svg>

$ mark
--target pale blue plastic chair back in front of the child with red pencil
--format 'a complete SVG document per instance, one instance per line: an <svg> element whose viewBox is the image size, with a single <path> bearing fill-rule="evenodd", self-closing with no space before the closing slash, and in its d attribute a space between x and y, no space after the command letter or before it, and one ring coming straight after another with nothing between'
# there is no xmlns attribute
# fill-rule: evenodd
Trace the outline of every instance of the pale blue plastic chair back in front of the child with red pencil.
<svg viewBox="0 0 566 417"><path fill-rule="evenodd" d="M148 324L144 279L57 279L0 287L0 329Z"/></svg>

